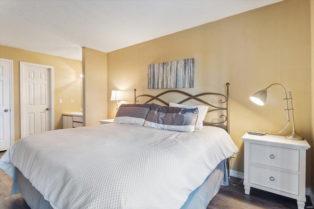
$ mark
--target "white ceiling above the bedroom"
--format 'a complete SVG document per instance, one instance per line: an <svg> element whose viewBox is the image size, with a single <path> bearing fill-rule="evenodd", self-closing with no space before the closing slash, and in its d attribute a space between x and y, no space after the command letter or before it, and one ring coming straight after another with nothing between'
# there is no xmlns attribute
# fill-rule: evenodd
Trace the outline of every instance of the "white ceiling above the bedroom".
<svg viewBox="0 0 314 209"><path fill-rule="evenodd" d="M82 59L281 0L0 0L0 45Z"/></svg>

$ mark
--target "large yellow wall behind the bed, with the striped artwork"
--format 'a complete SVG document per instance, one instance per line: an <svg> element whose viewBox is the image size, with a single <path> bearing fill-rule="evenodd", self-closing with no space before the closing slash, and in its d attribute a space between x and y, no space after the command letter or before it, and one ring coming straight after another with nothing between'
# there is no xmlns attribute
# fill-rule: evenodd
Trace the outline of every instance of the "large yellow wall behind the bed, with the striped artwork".
<svg viewBox="0 0 314 209"><path fill-rule="evenodd" d="M194 88L184 89L186 92L224 93L224 84L230 82L231 137L240 149L232 170L243 172L241 137L247 130L277 132L287 124L280 87L268 90L263 107L249 100L251 94L271 83L281 83L292 92L296 131L313 147L309 8L308 0L282 1L109 52L108 96L111 90L124 90L125 100L132 103L134 88L138 94L160 93L163 90L148 90L147 66L194 58ZM108 118L114 116L115 102L108 101ZM283 135L291 131L290 124ZM307 152L308 187L311 156L310 149Z"/></svg>

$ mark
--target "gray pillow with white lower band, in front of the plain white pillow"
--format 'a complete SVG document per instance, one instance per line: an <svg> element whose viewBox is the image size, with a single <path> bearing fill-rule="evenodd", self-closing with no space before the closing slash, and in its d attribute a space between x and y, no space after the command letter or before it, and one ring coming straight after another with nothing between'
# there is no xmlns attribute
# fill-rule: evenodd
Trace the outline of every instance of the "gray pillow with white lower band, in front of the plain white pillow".
<svg viewBox="0 0 314 209"><path fill-rule="evenodd" d="M151 104L144 126L171 131L194 132L198 108L186 109Z"/></svg>

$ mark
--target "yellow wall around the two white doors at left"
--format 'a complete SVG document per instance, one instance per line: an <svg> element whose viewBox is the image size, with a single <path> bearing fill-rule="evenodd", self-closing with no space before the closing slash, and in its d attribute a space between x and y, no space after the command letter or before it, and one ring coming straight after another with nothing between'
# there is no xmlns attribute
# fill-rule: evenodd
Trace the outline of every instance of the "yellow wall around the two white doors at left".
<svg viewBox="0 0 314 209"><path fill-rule="evenodd" d="M0 58L13 60L14 138L21 138L20 61L54 67L54 129L62 128L62 113L77 112L81 107L81 61L0 46ZM59 99L63 100L59 104ZM71 99L74 103L71 104Z"/></svg>

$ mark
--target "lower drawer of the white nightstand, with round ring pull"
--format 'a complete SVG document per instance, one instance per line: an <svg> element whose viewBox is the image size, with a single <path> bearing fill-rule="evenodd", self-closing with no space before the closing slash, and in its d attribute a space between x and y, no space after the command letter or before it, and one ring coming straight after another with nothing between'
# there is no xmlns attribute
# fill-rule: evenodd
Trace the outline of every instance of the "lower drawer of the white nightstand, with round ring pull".
<svg viewBox="0 0 314 209"><path fill-rule="evenodd" d="M249 183L299 195L299 174L249 165Z"/></svg>

